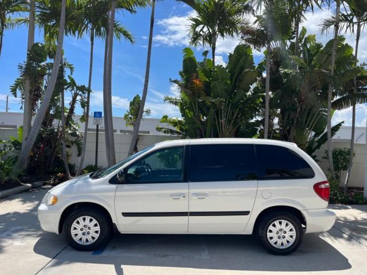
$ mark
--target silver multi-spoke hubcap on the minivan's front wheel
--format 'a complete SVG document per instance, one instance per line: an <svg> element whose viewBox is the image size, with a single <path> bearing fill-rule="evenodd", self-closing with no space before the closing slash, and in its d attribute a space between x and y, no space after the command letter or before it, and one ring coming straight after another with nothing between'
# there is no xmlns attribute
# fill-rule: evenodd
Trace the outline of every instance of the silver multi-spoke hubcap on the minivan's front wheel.
<svg viewBox="0 0 367 275"><path fill-rule="evenodd" d="M77 218L71 226L71 235L80 245L90 245L97 241L100 228L98 222L90 216Z"/></svg>

